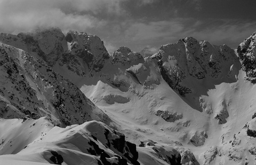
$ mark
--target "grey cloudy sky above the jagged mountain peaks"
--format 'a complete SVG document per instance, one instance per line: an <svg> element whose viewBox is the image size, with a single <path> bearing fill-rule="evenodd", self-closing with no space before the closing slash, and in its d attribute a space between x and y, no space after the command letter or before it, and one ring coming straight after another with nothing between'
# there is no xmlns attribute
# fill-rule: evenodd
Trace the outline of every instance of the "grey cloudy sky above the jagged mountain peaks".
<svg viewBox="0 0 256 165"><path fill-rule="evenodd" d="M157 50L193 36L236 48L256 31L256 0L0 0L0 32L59 27L119 46Z"/></svg>

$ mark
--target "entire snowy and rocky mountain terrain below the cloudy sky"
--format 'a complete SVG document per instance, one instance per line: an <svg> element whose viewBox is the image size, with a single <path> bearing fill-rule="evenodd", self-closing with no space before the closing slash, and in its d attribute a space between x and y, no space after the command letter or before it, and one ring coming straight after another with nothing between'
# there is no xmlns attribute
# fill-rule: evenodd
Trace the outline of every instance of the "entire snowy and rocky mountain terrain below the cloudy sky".
<svg viewBox="0 0 256 165"><path fill-rule="evenodd" d="M253 164L255 37L109 55L84 32L1 34L0 162Z"/></svg>

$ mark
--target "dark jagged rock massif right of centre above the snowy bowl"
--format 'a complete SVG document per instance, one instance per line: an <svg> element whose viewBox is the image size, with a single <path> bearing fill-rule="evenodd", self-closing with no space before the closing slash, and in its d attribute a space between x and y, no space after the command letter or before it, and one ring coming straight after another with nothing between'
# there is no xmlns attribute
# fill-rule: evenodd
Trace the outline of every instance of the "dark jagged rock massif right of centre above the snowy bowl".
<svg viewBox="0 0 256 165"><path fill-rule="evenodd" d="M153 57L157 59L164 80L181 96L191 93L189 85L182 85L184 79L233 77L232 67L238 63L235 52L227 45L215 46L204 40L198 42L193 37L163 45Z"/></svg>

